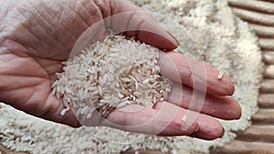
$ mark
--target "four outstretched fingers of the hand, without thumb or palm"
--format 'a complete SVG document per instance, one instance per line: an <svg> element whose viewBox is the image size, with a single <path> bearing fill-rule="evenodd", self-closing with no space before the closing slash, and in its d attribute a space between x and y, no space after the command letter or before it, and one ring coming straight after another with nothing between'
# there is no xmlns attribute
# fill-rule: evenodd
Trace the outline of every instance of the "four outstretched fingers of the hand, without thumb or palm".
<svg viewBox="0 0 274 154"><path fill-rule="evenodd" d="M113 125L114 128L147 134L158 133L163 128L159 134L161 136L187 135L198 139L216 139L224 133L216 118L230 120L241 117L237 101L228 97L234 93L233 84L226 75L218 78L219 71L215 68L173 51L161 53L159 65L161 74L174 83L166 102L159 102L154 108L134 106L116 109L108 117L114 124L121 125ZM131 113L136 108L141 111ZM182 121L185 115L186 121ZM152 122L142 125L152 119ZM102 124L111 126L108 120L103 120ZM183 126L186 125L184 130L182 122Z"/></svg>

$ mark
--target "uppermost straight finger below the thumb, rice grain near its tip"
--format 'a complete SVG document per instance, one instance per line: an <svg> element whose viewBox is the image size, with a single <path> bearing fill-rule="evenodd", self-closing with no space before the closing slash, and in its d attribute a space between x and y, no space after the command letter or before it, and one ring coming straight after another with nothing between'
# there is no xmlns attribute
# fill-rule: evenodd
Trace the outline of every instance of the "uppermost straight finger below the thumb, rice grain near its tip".
<svg viewBox="0 0 274 154"><path fill-rule="evenodd" d="M234 93L234 86L226 75L218 78L218 70L183 54L161 52L159 66L164 77L208 94L227 96Z"/></svg>

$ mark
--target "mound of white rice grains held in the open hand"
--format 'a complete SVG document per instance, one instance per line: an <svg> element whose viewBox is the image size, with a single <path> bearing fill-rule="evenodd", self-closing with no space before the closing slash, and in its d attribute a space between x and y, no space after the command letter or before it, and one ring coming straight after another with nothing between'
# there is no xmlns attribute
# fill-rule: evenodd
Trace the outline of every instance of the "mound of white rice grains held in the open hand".
<svg viewBox="0 0 274 154"><path fill-rule="evenodd" d="M157 66L159 50L125 36L108 36L64 62L53 93L62 98L64 115L72 107L77 117L106 117L113 108L138 104L153 108L171 91Z"/></svg>

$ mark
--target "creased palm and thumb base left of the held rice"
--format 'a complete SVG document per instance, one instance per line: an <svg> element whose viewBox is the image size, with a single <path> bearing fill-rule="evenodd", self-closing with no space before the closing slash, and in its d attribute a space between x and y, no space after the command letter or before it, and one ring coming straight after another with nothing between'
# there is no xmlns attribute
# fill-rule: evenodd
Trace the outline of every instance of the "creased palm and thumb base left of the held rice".
<svg viewBox="0 0 274 154"><path fill-rule="evenodd" d="M8 89L1 92L5 96L2 101L37 117L76 127L78 123L71 112L59 116L64 107L51 95L51 84L56 79L55 73L62 71L61 61L68 58L77 37L101 15L96 7L91 7L97 12L92 18L79 13L73 10L73 2L67 3L68 10L61 11L56 11L58 5L63 4L61 1L47 8L43 1L10 5L8 15L2 21L6 24L2 28L8 35L1 40L5 51L0 54L5 59L0 58L3 66L0 72L5 77L3 83L10 83ZM84 7L88 3L90 1L81 1L78 5ZM46 10L47 14L43 13ZM68 15L63 15L62 11L68 11Z"/></svg>

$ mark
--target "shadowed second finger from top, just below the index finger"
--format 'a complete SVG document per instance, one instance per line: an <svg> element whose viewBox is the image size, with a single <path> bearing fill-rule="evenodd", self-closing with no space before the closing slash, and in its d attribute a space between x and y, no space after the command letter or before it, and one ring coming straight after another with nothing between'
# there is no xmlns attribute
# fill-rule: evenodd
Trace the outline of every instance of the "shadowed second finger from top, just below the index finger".
<svg viewBox="0 0 274 154"><path fill-rule="evenodd" d="M205 113L216 118L237 119L241 117L241 108L237 101L230 97L215 97L205 95L197 103L197 95L193 88L182 86L181 83L174 83L167 101L182 108L188 108L197 112ZM200 95L201 96L201 95Z"/></svg>

